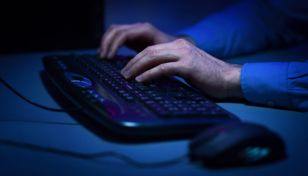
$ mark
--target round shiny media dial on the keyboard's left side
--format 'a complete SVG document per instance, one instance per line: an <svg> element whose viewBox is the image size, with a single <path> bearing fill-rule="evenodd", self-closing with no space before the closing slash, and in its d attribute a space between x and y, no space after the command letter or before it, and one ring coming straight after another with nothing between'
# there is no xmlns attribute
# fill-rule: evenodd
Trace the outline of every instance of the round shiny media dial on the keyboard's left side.
<svg viewBox="0 0 308 176"><path fill-rule="evenodd" d="M82 87L82 88L89 88L92 86L92 82L90 79L73 72L66 71L63 73L64 77L68 79L69 82L75 84L76 86Z"/></svg>

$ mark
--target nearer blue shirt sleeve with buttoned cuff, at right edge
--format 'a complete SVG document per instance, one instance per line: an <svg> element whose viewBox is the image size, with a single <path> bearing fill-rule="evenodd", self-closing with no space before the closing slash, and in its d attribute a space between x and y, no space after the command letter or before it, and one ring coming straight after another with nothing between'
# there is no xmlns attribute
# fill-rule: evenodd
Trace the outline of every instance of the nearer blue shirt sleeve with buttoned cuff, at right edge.
<svg viewBox="0 0 308 176"><path fill-rule="evenodd" d="M308 60L246 63L241 87L249 102L308 113Z"/></svg>

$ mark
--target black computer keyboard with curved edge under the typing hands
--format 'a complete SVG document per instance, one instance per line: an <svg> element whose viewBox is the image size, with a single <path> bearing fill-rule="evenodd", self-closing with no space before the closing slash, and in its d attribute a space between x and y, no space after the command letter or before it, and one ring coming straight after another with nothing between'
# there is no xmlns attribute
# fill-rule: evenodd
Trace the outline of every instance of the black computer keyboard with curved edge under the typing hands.
<svg viewBox="0 0 308 176"><path fill-rule="evenodd" d="M238 121L174 77L146 83L125 80L132 57L99 60L92 55L47 56L47 74L67 98L104 128L131 138L193 135L215 123Z"/></svg>

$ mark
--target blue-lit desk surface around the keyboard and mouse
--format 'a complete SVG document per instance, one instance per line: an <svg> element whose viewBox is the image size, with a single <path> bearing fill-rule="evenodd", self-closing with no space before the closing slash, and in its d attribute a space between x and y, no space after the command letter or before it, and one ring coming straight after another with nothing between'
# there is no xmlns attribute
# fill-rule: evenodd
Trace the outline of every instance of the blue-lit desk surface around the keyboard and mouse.
<svg viewBox="0 0 308 176"><path fill-rule="evenodd" d="M300 49L308 48L307 46L266 51L229 58L226 61L239 64L304 62L307 58L303 57ZM62 98L63 95L55 90L50 82L46 83L42 57L50 54L93 54L94 52L94 50L82 50L1 55L0 76L34 102L55 108L63 108L68 104L68 107L71 105L65 100L62 103L64 105L59 105L55 97ZM121 48L120 53L135 54L126 48ZM290 58L295 59L290 60ZM82 159L47 152L46 148L42 150L34 146L84 154L116 151L140 162L159 162L186 154L189 139L145 143L110 140L104 138L107 136L103 134L106 131L98 129L93 132L90 130L91 127L81 125L72 118L71 114L52 112L33 106L17 97L3 84L0 84L0 89L0 140L2 141L0 173L2 175L305 175L308 173L308 114L301 112L272 109L246 101L217 101L218 105L237 115L242 121L255 122L278 133L287 146L288 156L282 161L254 167L209 169L197 163L191 163L187 159L172 166L140 168L113 157ZM84 118L82 114L77 116ZM3 143L4 140L6 143ZM9 144L7 141L14 143Z"/></svg>

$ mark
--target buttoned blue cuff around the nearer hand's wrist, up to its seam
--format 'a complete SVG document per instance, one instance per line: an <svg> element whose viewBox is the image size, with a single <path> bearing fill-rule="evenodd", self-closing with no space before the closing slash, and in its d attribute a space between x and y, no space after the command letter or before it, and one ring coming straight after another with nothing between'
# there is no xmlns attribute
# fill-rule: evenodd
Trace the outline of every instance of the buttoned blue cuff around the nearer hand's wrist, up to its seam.
<svg viewBox="0 0 308 176"><path fill-rule="evenodd" d="M252 103L292 108L287 92L289 62L246 63L241 70L241 87Z"/></svg>

